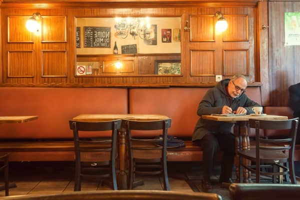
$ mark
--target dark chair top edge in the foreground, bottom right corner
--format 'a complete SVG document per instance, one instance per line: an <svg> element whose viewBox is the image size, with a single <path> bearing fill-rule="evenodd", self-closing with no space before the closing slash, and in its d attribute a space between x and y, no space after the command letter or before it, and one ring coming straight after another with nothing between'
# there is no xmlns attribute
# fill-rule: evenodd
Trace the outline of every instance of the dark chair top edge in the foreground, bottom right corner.
<svg viewBox="0 0 300 200"><path fill-rule="evenodd" d="M232 183L229 186L232 200L299 199L300 185L271 183Z"/></svg>

